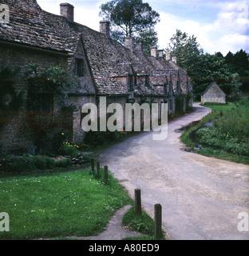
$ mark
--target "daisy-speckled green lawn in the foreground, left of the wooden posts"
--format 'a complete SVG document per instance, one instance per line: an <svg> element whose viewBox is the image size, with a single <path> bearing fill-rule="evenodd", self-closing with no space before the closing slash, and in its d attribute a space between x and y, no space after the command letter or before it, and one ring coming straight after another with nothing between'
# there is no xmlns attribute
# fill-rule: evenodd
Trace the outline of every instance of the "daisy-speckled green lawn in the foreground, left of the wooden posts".
<svg viewBox="0 0 249 256"><path fill-rule="evenodd" d="M0 239L34 239L99 234L132 199L111 175L104 185L82 170L0 178L0 202L10 215Z"/></svg>

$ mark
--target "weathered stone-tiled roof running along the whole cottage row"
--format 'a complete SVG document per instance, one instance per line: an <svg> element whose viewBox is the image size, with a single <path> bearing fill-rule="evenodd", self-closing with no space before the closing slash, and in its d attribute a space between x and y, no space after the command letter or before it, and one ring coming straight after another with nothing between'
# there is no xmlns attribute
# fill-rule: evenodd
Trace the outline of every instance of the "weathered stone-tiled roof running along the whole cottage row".
<svg viewBox="0 0 249 256"><path fill-rule="evenodd" d="M136 94L163 95L167 79L172 79L175 93L177 81L180 81L182 93L187 93L187 71L172 61L147 56L140 50L129 50L105 34L41 10L36 0L1 2L10 6L10 23L0 24L0 42L73 55L81 40L99 94L128 94L127 86L122 86L118 78L127 76L131 67L138 78L134 88ZM149 86L140 82L139 78L145 75L149 75Z"/></svg>

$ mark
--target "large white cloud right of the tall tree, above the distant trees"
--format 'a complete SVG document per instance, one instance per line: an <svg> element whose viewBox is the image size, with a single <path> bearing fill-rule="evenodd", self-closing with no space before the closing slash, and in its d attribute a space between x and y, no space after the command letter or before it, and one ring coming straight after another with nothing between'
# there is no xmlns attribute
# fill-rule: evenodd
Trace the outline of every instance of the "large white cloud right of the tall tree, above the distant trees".
<svg viewBox="0 0 249 256"><path fill-rule="evenodd" d="M182 0L176 0L177 3ZM194 3L197 1L193 1ZM210 3L210 2L209 2ZM182 3L184 4L184 2ZM199 4L201 4L199 2ZM213 22L203 24L200 21L184 18L166 12L160 13L160 24L156 26L160 48L166 48L176 29L195 35L204 52L214 54L220 51L226 55L229 50L235 53L243 49L249 52L249 17L246 2L216 2L219 11Z"/></svg>

